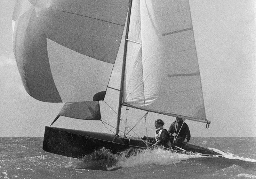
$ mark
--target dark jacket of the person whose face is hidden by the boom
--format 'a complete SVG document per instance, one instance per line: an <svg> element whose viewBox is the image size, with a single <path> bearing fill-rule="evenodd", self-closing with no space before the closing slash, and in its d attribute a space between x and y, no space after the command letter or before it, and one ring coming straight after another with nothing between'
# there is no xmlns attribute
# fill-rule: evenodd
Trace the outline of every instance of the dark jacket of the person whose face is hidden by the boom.
<svg viewBox="0 0 256 179"><path fill-rule="evenodd" d="M188 141L190 140L190 131L189 131L189 129L188 129L188 125L186 124L186 123L184 123L183 125L182 125L182 123L183 123L183 121L180 121L179 123L178 123L178 126L177 126L177 133L180 131L180 133L179 133L179 135L178 135L178 137L177 137L177 139L176 139L176 142L174 142L174 143L181 143L181 142L183 142L185 139L187 139ZM175 122L173 122L172 124L171 124L171 126L169 127L169 129L168 129L168 133L169 133L169 135L170 135L170 137L171 137L171 142L173 143L173 136L172 136L172 134L174 134L175 133L175 125L177 124L177 122L175 121ZM181 128L181 130L180 130L180 127L181 127L181 125L182 125L182 128Z"/></svg>

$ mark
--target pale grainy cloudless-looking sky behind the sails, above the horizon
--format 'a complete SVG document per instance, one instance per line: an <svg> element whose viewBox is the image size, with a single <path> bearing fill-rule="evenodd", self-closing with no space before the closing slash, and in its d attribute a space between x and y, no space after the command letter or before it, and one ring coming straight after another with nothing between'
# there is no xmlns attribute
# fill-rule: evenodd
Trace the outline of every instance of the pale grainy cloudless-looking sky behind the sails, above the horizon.
<svg viewBox="0 0 256 179"><path fill-rule="evenodd" d="M256 137L256 1L190 0L189 3L206 118L211 121L210 128L206 129L204 123L186 120L191 136ZM63 103L37 101L22 85L12 51L14 4L14 0L0 1L0 136L42 137L44 127L51 124ZM106 101L117 96L110 90ZM107 108L102 112L102 116L108 115L103 117L104 120L112 118L111 110ZM127 110L123 108L122 118L125 119ZM143 114L129 109L127 120L139 120ZM174 121L170 116L149 113L147 132L151 136L157 118L164 120L167 129ZM108 131L100 125L101 122L64 117L54 124L57 127ZM140 125L143 127L144 124Z"/></svg>

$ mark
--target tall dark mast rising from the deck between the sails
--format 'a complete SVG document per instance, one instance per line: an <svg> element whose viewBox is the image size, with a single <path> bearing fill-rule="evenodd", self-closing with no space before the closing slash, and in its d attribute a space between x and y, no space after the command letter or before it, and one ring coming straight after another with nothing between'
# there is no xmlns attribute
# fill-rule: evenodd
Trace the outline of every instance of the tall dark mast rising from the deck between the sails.
<svg viewBox="0 0 256 179"><path fill-rule="evenodd" d="M122 75L121 75L121 84L120 84L120 93L119 93L119 102L118 102L118 114L117 114L117 122L116 122L116 135L118 135L119 133L119 125L120 125L120 118L121 118L122 96L123 96L123 90L124 90L124 72L125 72L126 53L127 53L127 39L128 39L128 32L129 32L131 9L132 9L132 0L130 0L129 2L127 25L126 25L124 57L123 57L123 66L122 66Z"/></svg>

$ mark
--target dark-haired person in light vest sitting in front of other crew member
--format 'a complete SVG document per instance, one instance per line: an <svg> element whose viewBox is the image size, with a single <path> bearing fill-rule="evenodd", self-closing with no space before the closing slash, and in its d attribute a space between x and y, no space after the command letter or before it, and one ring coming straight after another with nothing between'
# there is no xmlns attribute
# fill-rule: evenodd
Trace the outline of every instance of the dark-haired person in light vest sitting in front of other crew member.
<svg viewBox="0 0 256 179"><path fill-rule="evenodd" d="M156 133L155 133L155 145L171 147L170 137L168 131L164 129L164 121L156 119L155 121Z"/></svg>

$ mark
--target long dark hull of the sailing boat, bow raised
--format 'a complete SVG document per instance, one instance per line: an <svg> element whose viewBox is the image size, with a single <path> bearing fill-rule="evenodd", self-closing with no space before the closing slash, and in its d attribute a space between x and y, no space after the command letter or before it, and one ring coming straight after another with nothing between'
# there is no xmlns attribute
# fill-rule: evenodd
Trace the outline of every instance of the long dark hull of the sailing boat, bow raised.
<svg viewBox="0 0 256 179"><path fill-rule="evenodd" d="M133 148L146 149L146 141L140 138L120 137L114 134L80 131L56 127L45 127L43 149L53 154L64 155L73 158L81 158L102 147L117 153ZM203 155L220 155L212 150L192 144L178 146L180 152L201 153Z"/></svg>

